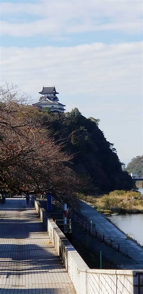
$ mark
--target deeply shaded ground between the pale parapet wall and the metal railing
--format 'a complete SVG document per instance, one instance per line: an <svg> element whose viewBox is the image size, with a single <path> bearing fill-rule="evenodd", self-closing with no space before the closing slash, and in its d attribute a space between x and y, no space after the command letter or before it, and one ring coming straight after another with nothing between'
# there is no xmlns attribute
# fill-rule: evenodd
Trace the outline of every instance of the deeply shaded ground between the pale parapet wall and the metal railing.
<svg viewBox="0 0 143 294"><path fill-rule="evenodd" d="M39 200L42 206L47 209L45 200ZM82 202L82 201L80 201ZM77 207L80 207L78 205ZM87 205L87 204L86 204ZM87 205L88 206L88 205ZM90 207L90 206L89 206ZM93 209L95 212L95 209ZM56 206L52 205L52 212L61 212ZM76 215L84 222L90 223L90 218L82 215L79 210L76 210ZM100 214L99 214L100 215ZM102 215L101 215L102 216ZM90 268L99 268L99 251L102 251L102 268L105 269L142 269L143 265L135 259L126 258L122 253L118 253L115 249L110 248L109 245L103 244L101 241L96 240L94 237L88 235L77 223L72 222L72 245L81 254L84 261ZM114 236L115 237L115 236Z"/></svg>

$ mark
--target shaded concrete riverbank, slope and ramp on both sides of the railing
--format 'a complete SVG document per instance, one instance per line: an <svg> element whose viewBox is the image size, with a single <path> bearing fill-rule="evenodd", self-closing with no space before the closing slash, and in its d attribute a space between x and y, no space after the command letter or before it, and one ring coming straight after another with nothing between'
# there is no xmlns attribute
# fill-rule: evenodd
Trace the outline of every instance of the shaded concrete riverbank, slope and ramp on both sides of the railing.
<svg viewBox="0 0 143 294"><path fill-rule="evenodd" d="M61 199L58 199L61 201ZM47 209L46 200L39 200L41 205ZM65 201L65 199L64 199ZM67 203L68 206L68 203ZM53 210L54 209L54 210ZM73 207L75 210L75 207ZM60 210L52 205L52 211L54 213L60 213ZM136 242L126 237L123 232L120 232L112 223L100 213L89 206L88 204L76 200L76 215L82 219L87 225L93 224L93 228L97 228L104 235L112 238L119 244L125 246L128 249L130 258L126 258L122 253L117 253L116 250L109 245L102 243L95 239L91 235L88 235L77 223L72 222L72 245L87 262L91 268L99 268L99 251L102 252L102 267L108 269L141 269L143 267L143 255L142 248L136 244Z"/></svg>

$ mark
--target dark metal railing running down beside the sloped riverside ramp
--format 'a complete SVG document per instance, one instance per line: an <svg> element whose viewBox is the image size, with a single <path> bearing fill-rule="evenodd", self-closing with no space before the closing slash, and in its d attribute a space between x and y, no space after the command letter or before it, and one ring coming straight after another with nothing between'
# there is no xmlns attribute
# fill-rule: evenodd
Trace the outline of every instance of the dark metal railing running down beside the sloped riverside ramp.
<svg viewBox="0 0 143 294"><path fill-rule="evenodd" d="M57 206L60 210L64 211L64 204L56 200L54 197L52 198L52 203ZM41 198L40 198L41 199ZM46 200L46 196L42 196L42 199ZM123 245L119 244L118 242L110 239L106 235L96 231L95 229L89 227L85 222L82 221L78 216L76 216L72 211L68 209L67 216L73 221L76 222L77 225L79 225L86 233L93 236L94 238L102 241L102 243L105 243L109 245L111 248L115 249L116 251L126 255L128 257L128 249L124 247Z"/></svg>

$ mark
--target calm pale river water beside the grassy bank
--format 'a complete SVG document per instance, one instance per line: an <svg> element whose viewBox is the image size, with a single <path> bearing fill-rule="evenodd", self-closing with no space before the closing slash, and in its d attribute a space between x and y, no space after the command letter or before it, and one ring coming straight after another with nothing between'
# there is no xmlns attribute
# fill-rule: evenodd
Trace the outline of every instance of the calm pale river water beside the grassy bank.
<svg viewBox="0 0 143 294"><path fill-rule="evenodd" d="M138 189L143 195L143 189ZM126 214L110 216L110 220L125 234L143 246L143 214Z"/></svg>

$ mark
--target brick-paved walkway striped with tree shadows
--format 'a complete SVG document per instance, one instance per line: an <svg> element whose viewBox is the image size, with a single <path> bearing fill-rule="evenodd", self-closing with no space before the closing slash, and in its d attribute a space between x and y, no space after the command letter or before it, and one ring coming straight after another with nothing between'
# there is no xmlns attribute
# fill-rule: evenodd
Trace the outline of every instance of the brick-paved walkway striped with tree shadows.
<svg viewBox="0 0 143 294"><path fill-rule="evenodd" d="M33 207L0 204L0 294L74 294L74 286Z"/></svg>

